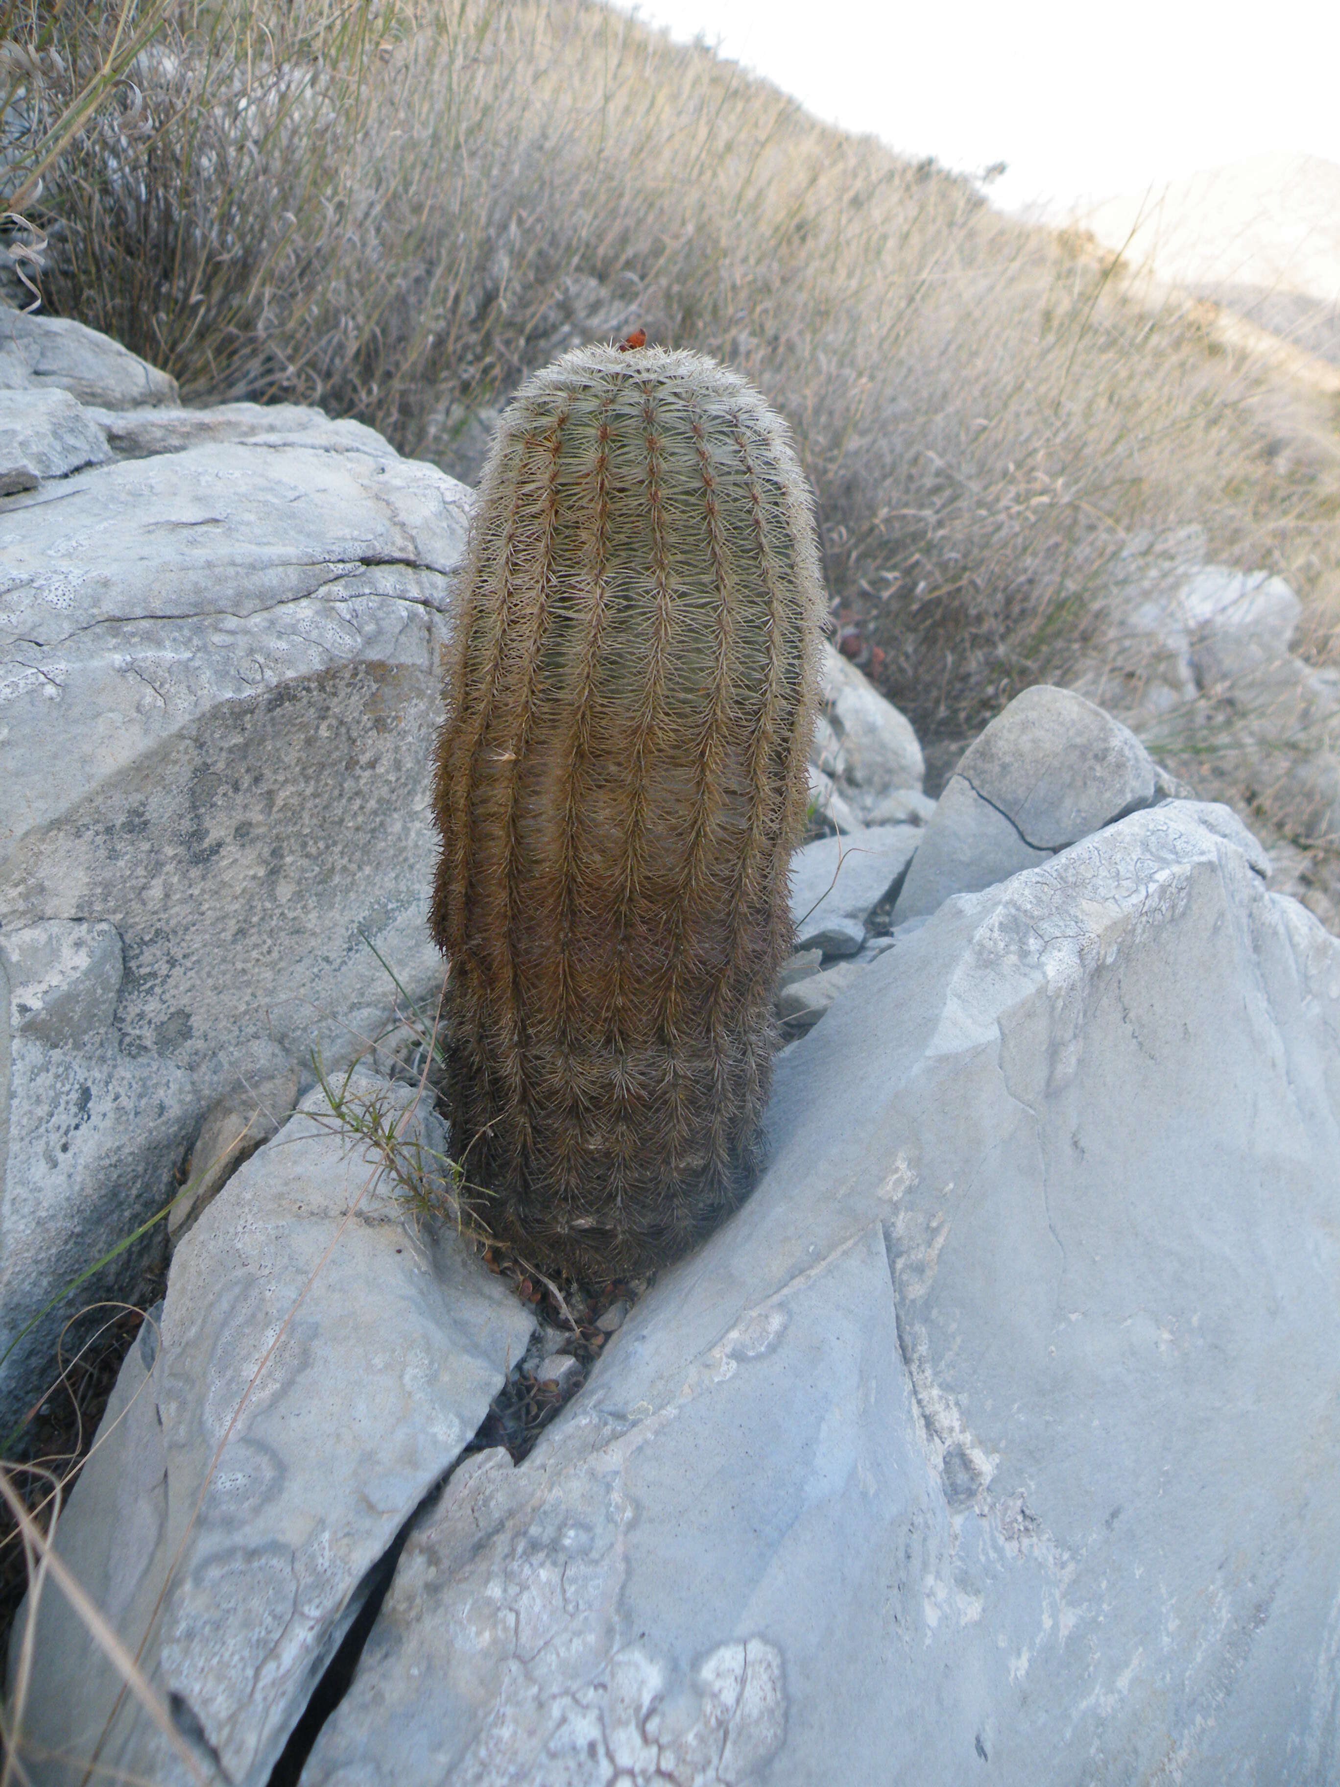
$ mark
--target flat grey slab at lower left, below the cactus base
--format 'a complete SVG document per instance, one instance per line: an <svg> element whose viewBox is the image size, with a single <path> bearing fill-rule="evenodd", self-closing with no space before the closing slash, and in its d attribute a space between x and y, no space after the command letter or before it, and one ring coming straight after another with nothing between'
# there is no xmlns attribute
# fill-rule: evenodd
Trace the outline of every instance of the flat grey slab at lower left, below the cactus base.
<svg viewBox="0 0 1340 1787"><path fill-rule="evenodd" d="M348 1094L398 1122L425 1162L443 1154L413 1090L359 1074ZM147 1674L229 1782L268 1780L368 1573L472 1439L532 1328L454 1233L415 1235L377 1156L332 1131L322 1094L182 1240L152 1374L145 1383L136 1349L59 1544L130 1651L145 1640ZM132 1397L136 1414L114 1426ZM88 1758L118 1685L48 1594L29 1741ZM100 1762L161 1787L189 1780L132 1701ZM38 1764L32 1778L75 1782L82 1769Z"/></svg>

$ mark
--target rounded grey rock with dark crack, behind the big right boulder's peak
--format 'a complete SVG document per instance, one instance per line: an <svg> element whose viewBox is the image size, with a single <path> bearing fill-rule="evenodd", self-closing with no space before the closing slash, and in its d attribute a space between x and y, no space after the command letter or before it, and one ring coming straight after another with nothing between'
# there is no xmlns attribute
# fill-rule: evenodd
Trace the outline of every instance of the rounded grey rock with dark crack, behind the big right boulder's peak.
<svg viewBox="0 0 1340 1787"><path fill-rule="evenodd" d="M963 752L925 827L895 922L1043 863L1160 797L1160 772L1120 720L1083 695L1026 688Z"/></svg>

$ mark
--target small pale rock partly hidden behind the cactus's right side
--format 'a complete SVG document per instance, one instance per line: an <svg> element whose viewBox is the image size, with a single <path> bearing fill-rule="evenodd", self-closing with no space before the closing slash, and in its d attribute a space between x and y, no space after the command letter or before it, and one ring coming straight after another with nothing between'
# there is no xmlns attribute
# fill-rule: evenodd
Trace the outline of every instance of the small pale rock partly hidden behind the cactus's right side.
<svg viewBox="0 0 1340 1787"><path fill-rule="evenodd" d="M911 724L827 640L820 697L811 765L829 779L856 824L900 822L908 817L906 795L920 793L925 774Z"/></svg>

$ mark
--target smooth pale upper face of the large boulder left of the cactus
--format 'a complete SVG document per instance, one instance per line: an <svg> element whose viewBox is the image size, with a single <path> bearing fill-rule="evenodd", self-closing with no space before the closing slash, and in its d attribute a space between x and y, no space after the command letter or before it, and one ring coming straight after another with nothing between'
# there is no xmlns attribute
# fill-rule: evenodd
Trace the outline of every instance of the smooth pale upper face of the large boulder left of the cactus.
<svg viewBox="0 0 1340 1787"><path fill-rule="evenodd" d="M432 670L465 516L461 486L391 449L207 445L11 497L0 851L213 709L361 661Z"/></svg>

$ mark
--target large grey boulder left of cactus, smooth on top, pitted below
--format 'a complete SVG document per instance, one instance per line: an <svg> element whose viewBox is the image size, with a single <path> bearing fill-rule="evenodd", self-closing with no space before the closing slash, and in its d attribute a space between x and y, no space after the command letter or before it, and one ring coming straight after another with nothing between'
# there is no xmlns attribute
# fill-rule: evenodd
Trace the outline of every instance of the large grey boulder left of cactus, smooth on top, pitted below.
<svg viewBox="0 0 1340 1787"><path fill-rule="evenodd" d="M311 1083L382 1028L370 945L429 1006L441 979L429 776L468 491L318 411L84 418L130 457L0 499L0 1010L52 926L84 938L41 970L59 1045L16 1004L0 1040L0 1353L172 1197L220 1095ZM0 1365L5 1431L68 1313Z"/></svg>

